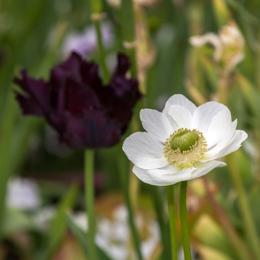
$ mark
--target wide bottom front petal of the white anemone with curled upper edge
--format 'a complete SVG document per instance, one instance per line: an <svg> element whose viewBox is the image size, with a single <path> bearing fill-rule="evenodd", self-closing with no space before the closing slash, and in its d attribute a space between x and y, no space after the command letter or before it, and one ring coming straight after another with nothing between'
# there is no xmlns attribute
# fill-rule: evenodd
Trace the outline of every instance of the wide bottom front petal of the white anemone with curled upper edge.
<svg viewBox="0 0 260 260"><path fill-rule="evenodd" d="M133 167L133 173L141 181L157 186L172 185L179 181L187 180L191 177L191 173L194 170L196 168L182 170L181 167L175 167L173 164L154 170L144 170L137 166Z"/></svg>

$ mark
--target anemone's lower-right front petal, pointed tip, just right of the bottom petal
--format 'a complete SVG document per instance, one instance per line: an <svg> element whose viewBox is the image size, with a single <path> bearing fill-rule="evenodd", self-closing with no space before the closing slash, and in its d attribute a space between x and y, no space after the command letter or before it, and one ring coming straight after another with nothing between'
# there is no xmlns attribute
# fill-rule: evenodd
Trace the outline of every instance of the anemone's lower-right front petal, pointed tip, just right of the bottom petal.
<svg viewBox="0 0 260 260"><path fill-rule="evenodd" d="M211 170L213 170L214 168L222 167L225 165L226 163L221 161L194 162L193 167L196 167L197 170L191 173L191 177L189 178L189 180L203 176Z"/></svg>

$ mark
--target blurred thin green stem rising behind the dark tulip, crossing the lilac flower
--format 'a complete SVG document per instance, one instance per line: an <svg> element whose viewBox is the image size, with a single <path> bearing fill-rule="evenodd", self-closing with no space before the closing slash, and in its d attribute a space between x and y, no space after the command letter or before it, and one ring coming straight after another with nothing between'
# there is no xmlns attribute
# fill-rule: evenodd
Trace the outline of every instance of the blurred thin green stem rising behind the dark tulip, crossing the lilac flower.
<svg viewBox="0 0 260 260"><path fill-rule="evenodd" d="M95 15L101 14L101 11L102 11L102 1L101 0L91 0L90 6L91 6L90 10L91 10L92 14L95 14ZM109 80L109 73L108 73L107 66L106 66L106 56L105 56L105 49L104 49L104 45L103 45L103 41L102 41L102 34L101 34L101 29L100 29L100 20L98 20L98 19L93 20L93 24L96 29L100 65L102 68L104 81L105 81L105 83L107 83Z"/></svg>

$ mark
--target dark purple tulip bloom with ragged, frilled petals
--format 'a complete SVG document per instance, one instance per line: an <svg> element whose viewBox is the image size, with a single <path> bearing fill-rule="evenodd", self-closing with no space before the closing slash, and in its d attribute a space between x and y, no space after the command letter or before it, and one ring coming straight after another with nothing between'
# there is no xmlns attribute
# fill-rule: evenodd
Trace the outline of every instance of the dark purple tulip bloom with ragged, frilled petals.
<svg viewBox="0 0 260 260"><path fill-rule="evenodd" d="M22 70L14 79L23 90L16 98L24 115L44 116L70 147L109 147L120 141L141 98L137 80L126 77L129 67L129 58L118 54L112 79L103 86L98 66L72 53L51 70L49 82Z"/></svg>

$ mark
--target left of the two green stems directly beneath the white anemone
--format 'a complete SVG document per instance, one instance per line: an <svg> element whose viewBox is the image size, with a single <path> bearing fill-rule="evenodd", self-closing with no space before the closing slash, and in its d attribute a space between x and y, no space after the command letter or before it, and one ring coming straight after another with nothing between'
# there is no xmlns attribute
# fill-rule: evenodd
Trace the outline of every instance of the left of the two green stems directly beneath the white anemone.
<svg viewBox="0 0 260 260"><path fill-rule="evenodd" d="M167 186L168 196L168 210L171 233L171 249L172 260L177 260L177 235L176 235L176 217L175 217L175 203L174 203L174 186Z"/></svg>

